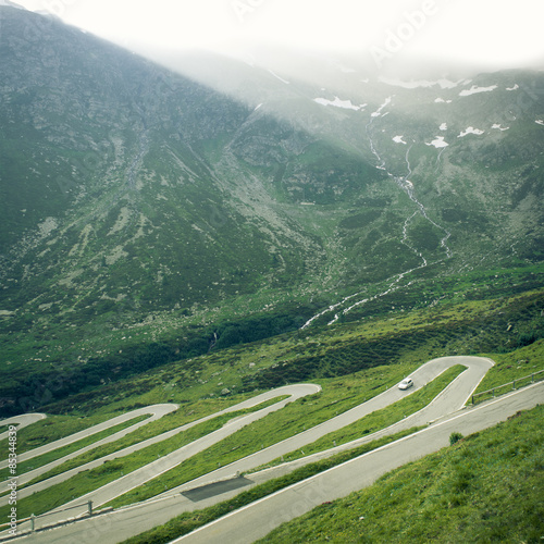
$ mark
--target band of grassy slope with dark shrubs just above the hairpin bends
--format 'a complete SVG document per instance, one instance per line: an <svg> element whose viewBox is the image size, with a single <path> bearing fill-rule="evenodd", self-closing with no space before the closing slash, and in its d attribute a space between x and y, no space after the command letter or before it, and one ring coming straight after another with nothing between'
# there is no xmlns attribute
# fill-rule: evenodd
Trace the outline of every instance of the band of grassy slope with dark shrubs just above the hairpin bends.
<svg viewBox="0 0 544 544"><path fill-rule="evenodd" d="M540 281L536 274L528 276L536 279L532 282ZM45 409L53 413L87 415L169 400L212 400L221 397L225 388L231 395L249 393L286 383L343 376L378 366L419 364L433 357L456 354L498 354L499 364L481 385L489 388L493 382L487 380L497 373L507 370L508 374L497 378L507 382L542 368L536 354L544 338L541 316L544 295L542 289L518 293L523 288L523 279L512 273L505 274L503 285L495 274L473 276L472 281L456 286L448 282L422 283L417 299L403 302L399 298L395 304L384 297L370 305L359 321L211 350L133 378L120 373L123 380L112 380L53 401ZM491 282L495 283L493 289L489 288ZM410 306L416 308L410 311ZM518 354L518 349L524 350ZM518 360L528 362L518 364ZM499 370L506 367L510 368ZM99 359L95 371L99 375L101 369L109 368L108 358ZM82 370L90 369L87 364Z"/></svg>

